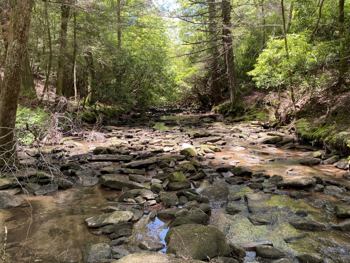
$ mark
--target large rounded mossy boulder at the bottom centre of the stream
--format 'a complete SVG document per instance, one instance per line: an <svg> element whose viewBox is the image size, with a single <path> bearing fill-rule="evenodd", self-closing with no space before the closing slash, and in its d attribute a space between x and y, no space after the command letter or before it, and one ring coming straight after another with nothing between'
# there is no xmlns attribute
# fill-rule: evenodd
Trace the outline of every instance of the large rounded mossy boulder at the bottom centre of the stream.
<svg viewBox="0 0 350 263"><path fill-rule="evenodd" d="M225 235L216 227L184 224L169 229L165 241L168 245L167 254L184 255L199 260L230 254Z"/></svg>

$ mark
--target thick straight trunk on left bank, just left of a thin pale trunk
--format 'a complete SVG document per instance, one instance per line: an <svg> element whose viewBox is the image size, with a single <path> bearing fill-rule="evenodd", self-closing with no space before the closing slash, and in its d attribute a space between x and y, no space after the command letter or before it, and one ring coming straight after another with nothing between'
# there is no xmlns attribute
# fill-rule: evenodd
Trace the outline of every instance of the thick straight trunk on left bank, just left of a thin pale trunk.
<svg viewBox="0 0 350 263"><path fill-rule="evenodd" d="M70 6L61 6L61 32L59 34L59 48L58 68L57 68L57 84L56 95L61 96L64 92L64 75L66 74L66 44L67 44L67 27L69 18Z"/></svg>

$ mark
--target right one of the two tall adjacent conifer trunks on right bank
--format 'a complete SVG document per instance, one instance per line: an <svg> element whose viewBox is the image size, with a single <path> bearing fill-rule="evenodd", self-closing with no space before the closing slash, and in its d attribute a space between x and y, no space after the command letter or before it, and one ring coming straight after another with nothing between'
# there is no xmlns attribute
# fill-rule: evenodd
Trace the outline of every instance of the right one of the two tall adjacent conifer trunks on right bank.
<svg viewBox="0 0 350 263"><path fill-rule="evenodd" d="M231 36L231 2L230 0L222 1L222 16L223 29L222 38L224 45L224 56L226 66L226 76L228 80L230 102L233 107L238 93L238 83L235 69L235 61L232 50L232 36Z"/></svg>

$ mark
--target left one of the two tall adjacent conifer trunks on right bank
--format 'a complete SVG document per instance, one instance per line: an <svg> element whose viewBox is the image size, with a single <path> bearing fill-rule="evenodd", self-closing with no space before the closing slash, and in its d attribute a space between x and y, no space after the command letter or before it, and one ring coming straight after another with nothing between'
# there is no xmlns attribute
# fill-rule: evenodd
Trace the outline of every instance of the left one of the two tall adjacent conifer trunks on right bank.
<svg viewBox="0 0 350 263"><path fill-rule="evenodd" d="M217 42L214 41L214 39L217 39L217 27L215 23L215 17L216 17L216 8L215 8L215 0L209 1L209 34L210 34L210 43L213 47L213 55L212 55L212 61L210 65L211 70L211 87L213 90L213 96L214 96L214 103L215 105L218 105L221 100L221 89L220 89L220 74L219 74L219 52L217 48Z"/></svg>

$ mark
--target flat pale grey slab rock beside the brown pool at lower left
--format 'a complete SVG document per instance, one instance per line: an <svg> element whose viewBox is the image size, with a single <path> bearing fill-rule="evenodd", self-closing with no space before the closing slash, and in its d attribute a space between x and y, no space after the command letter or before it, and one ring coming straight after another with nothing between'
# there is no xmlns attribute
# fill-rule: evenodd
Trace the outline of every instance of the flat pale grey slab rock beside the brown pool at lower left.
<svg viewBox="0 0 350 263"><path fill-rule="evenodd" d="M96 215L85 220L87 227L101 227L103 225L120 224L131 219L131 211L115 211L108 214Z"/></svg>

